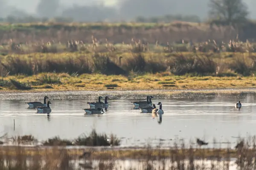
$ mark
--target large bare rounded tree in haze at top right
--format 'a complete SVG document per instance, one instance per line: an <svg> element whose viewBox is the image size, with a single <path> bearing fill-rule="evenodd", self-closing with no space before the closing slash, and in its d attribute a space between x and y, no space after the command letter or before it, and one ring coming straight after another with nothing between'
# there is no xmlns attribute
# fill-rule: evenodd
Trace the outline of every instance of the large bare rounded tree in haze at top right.
<svg viewBox="0 0 256 170"><path fill-rule="evenodd" d="M242 0L210 0L209 16L222 24L243 23L247 21L248 9Z"/></svg>

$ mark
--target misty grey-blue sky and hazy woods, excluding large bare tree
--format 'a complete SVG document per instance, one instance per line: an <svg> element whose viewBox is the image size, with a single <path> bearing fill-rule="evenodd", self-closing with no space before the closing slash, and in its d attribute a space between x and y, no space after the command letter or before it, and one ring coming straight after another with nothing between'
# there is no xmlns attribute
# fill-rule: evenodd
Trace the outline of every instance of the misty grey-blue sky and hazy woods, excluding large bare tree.
<svg viewBox="0 0 256 170"><path fill-rule="evenodd" d="M256 0L243 1L249 17L256 19ZM151 18L152 22L154 17L162 17L167 21L174 18L200 22L207 20L208 4L209 0L0 0L0 21L58 18L59 21L146 22Z"/></svg>

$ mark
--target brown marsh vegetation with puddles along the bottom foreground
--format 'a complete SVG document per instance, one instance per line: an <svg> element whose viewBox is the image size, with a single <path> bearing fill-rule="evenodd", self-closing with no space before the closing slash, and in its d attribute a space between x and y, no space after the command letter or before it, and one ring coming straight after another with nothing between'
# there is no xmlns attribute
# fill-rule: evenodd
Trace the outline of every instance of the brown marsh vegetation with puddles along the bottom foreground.
<svg viewBox="0 0 256 170"><path fill-rule="evenodd" d="M17 138L25 141L35 140L31 135ZM98 138L94 136L93 140ZM56 140L63 142L60 139ZM3 163L0 164L0 168L3 170L7 168L28 170L39 167L43 170L80 170L85 167L99 170L116 168L126 170L138 168L143 170L255 168L255 137L240 138L238 143L238 147L231 148L228 142L222 144L213 140L212 148L199 148L193 141L185 144L183 140L176 138L167 148L162 148L160 141L159 147L153 148L148 143L143 148L124 150L114 147L109 149L57 147L63 146L61 142L52 143L51 147L23 147L19 143L17 146L1 147L0 160ZM226 149L220 149L221 145L226 145ZM129 164L125 165L124 160L127 159L129 159Z"/></svg>

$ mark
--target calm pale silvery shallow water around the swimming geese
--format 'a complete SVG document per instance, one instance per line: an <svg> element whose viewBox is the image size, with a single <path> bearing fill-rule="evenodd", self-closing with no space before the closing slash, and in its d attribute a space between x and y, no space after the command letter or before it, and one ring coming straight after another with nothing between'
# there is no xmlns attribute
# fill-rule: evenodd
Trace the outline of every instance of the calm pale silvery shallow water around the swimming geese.
<svg viewBox="0 0 256 170"><path fill-rule="evenodd" d="M185 142L201 138L209 141L212 147L213 138L218 142L231 142L236 145L237 137L255 135L256 129L256 94L243 93L242 95L212 95L201 98L166 99L155 96L152 102L163 104L163 120L159 124L157 118L151 114L140 113L133 109L133 98L125 99L113 97L109 100L110 107L103 115L84 116L83 108L88 108L88 101L97 101L96 96L86 96L85 100L76 100L79 93L67 92L69 99L61 98L55 93L48 93L52 98L52 113L37 114L35 109L27 109L27 101L41 101L42 94L1 94L0 99L0 135L32 134L39 140L59 135L61 138L76 138L83 133L89 133L93 127L98 132L114 133L122 138L122 146L143 146L151 144L172 144L175 138L184 138ZM14 96L20 96L15 98ZM29 96L29 99L24 99ZM44 94L43 94L44 96ZM90 99L88 99L90 98ZM111 95L110 95L111 98ZM234 104L240 100L241 110ZM157 106L158 107L158 106ZM13 127L15 119L15 130ZM217 147L227 147L227 144L218 144Z"/></svg>

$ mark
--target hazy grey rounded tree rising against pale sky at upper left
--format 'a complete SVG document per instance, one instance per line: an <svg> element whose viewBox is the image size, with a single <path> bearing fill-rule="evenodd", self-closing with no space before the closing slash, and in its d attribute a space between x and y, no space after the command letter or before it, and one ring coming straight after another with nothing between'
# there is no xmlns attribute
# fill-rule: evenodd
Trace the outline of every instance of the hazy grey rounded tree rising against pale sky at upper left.
<svg viewBox="0 0 256 170"><path fill-rule="evenodd" d="M40 0L37 6L37 13L40 17L55 17L59 5L59 0Z"/></svg>

